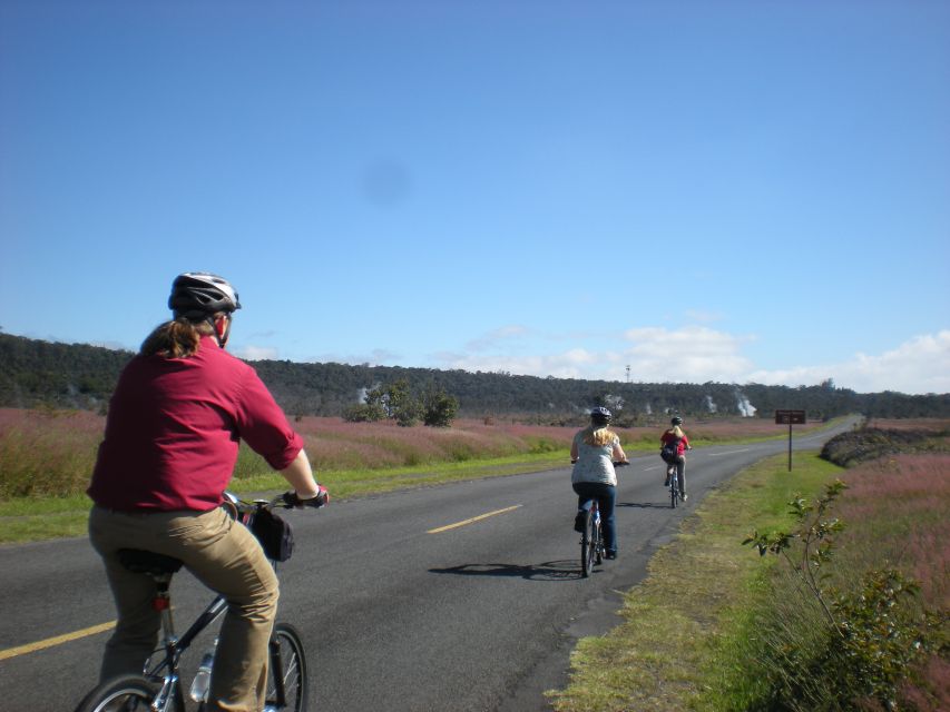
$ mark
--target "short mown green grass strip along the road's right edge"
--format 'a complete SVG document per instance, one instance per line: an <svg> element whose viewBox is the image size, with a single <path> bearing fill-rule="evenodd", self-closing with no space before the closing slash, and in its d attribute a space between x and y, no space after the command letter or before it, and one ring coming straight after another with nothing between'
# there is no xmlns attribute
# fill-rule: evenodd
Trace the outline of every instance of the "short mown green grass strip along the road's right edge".
<svg viewBox="0 0 950 712"><path fill-rule="evenodd" d="M647 580L625 596L624 623L580 641L570 684L548 693L560 712L744 710L756 694L743 666L775 557L740 542L753 527L786 527L785 502L817 494L840 468L800 455L743 471L711 494L678 537L650 560Z"/></svg>

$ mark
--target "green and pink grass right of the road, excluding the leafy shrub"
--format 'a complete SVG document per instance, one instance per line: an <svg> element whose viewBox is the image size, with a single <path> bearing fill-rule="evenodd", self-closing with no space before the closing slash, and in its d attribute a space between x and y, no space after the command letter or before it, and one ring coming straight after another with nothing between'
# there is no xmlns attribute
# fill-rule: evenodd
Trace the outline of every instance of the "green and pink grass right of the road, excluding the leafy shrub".
<svg viewBox="0 0 950 712"><path fill-rule="evenodd" d="M709 495L677 540L653 557L647 580L626 594L618 627L580 642L570 685L548 693L555 709L883 710L868 700L841 700L835 691L846 681L822 678L821 665L792 670L799 651L822 644L827 624L785 562L741 545L754 528L793 531L786 503L796 493L816 498L835 478L849 488L831 515L845 528L835 536L830 578L822 585L855 594L864 572L884 567L921 582L904 614L915 627L921 610L936 613L942 622L929 636L944 647L922 656L917 679L900 688L895 709L950 709L947 426L918 423L929 437L914 454L888 454L850 469L815 453L797 456L790 474L785 458L774 457ZM897 620L895 613L881 620L888 615ZM783 685L785 700L777 703L775 691Z"/></svg>

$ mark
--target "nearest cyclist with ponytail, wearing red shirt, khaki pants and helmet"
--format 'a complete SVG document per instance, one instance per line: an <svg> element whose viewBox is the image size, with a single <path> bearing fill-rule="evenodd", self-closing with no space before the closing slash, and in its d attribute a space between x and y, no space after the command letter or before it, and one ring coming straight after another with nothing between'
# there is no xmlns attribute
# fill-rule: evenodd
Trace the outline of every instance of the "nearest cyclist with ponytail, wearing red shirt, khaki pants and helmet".
<svg viewBox="0 0 950 712"><path fill-rule="evenodd" d="M118 609L100 679L140 673L155 649L155 582L126 570L119 548L174 556L228 602L207 710L259 712L277 577L253 534L219 506L241 439L281 472L298 501L322 506L303 439L256 372L225 350L241 308L227 280L179 275L159 325L123 370L109 403L88 494L89 538Z"/></svg>

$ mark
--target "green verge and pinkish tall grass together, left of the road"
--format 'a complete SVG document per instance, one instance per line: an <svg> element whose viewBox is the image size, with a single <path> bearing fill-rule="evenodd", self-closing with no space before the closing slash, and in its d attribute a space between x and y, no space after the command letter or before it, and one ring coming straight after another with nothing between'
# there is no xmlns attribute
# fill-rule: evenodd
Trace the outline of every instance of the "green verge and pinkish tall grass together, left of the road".
<svg viewBox="0 0 950 712"><path fill-rule="evenodd" d="M451 428L402 428L305 417L294 423L307 455L336 498L458 479L567 466L577 427L461 419ZM817 427L817 426L815 426ZM104 418L87 412L0 409L0 543L86 532L84 491L102 436ZM618 428L630 454L657 448L663 426ZM802 432L811 429L811 426ZM783 438L764 419L687 423L695 446ZM231 488L280 491L283 478L242 447Z"/></svg>

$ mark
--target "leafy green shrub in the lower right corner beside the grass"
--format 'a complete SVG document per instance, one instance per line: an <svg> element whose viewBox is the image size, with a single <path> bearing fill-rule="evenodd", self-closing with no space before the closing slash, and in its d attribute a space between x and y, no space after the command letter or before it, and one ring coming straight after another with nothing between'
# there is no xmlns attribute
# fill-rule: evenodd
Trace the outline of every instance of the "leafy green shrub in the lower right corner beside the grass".
<svg viewBox="0 0 950 712"><path fill-rule="evenodd" d="M764 632L773 643L765 653L773 663L765 665L772 676L766 709L898 710L902 685L928 651L941 645L940 622L932 615L915 616L919 584L899 571L868 571L849 591L825 585L834 534L844 528L829 516L830 510L845 487L835 481L814 503L796 496L789 503L799 522L795 530L753 532L743 542L753 544L760 555L784 558L821 613L811 630L795 625L781 630L787 620L775 616L772 630ZM795 617L799 624L803 620Z"/></svg>

